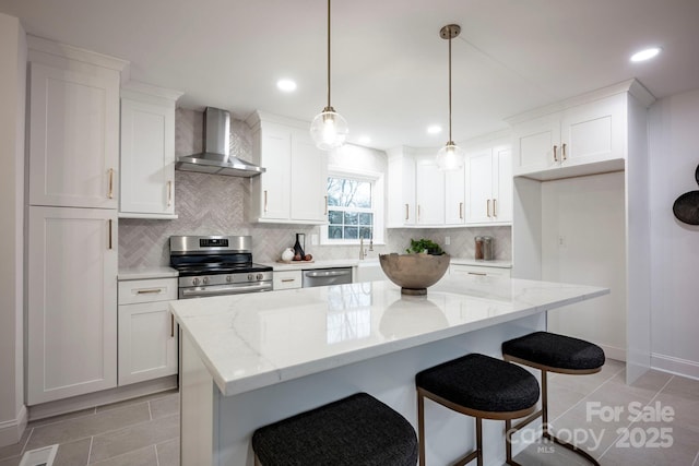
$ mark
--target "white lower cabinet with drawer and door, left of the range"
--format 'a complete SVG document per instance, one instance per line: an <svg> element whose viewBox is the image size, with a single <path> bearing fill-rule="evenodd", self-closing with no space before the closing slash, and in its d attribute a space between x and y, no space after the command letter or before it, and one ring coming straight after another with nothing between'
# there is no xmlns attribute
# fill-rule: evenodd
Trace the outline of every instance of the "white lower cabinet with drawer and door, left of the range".
<svg viewBox="0 0 699 466"><path fill-rule="evenodd" d="M119 282L119 385L177 373L177 278Z"/></svg>

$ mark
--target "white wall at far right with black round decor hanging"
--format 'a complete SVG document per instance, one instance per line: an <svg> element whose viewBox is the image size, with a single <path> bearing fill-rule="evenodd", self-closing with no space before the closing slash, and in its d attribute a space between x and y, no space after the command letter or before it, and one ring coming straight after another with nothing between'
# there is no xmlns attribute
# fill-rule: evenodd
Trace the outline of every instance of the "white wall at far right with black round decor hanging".
<svg viewBox="0 0 699 466"><path fill-rule="evenodd" d="M677 196L699 190L699 89L650 109L651 365L699 378L699 227L672 212Z"/></svg>

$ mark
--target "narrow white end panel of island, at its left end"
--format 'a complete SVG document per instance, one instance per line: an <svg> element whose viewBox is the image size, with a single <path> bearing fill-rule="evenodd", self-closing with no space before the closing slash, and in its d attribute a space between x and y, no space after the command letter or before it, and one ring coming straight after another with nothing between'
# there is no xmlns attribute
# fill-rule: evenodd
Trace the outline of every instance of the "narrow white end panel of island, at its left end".
<svg viewBox="0 0 699 466"><path fill-rule="evenodd" d="M180 343L180 465L213 465L215 391L209 370L181 331Z"/></svg>

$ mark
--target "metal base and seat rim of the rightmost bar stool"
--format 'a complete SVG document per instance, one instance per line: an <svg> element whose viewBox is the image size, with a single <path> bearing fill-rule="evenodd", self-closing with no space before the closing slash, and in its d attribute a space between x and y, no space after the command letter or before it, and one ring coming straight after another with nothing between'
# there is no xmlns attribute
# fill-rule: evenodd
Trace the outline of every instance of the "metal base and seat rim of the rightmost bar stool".
<svg viewBox="0 0 699 466"><path fill-rule="evenodd" d="M547 374L548 372L557 372L557 373L565 373L565 374L584 375L584 374L592 374L592 373L600 372L600 370L602 370L602 367L594 368L594 369L561 369L561 368L554 368L549 366L540 365L536 362L528 361L525 359L516 358L509 355L502 355L502 359L505 359L506 361L529 366L542 371L542 383L541 383L542 408L536 413L532 414L530 417L528 417L523 421L519 422L517 426L512 426L511 419L508 419L505 421L505 429L506 429L506 437L507 437L507 442L506 442L507 464L510 464L510 465L518 464L512 459L512 442L511 442L512 434L541 417L542 418L542 438L550 440L554 443L570 450L571 452L576 453L579 456L582 456L583 458L585 458L587 461L589 461L591 464L595 466L600 466L600 463L594 457L592 457L590 453L580 449L579 446L573 445L572 443L568 443L564 440L560 440L559 438L557 438L556 435L554 435L548 431L548 383L547 383L548 378L547 378Z"/></svg>

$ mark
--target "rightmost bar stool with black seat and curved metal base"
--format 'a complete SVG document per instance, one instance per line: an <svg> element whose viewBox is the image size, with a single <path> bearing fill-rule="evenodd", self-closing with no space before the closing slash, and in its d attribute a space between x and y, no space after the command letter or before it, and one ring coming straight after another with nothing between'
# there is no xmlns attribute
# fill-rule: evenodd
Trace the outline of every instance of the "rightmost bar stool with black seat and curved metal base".
<svg viewBox="0 0 699 466"><path fill-rule="evenodd" d="M538 417L542 418L543 437L556 442L594 465L600 465L588 452L562 441L548 431L548 393L546 374L558 372L565 374L591 374L600 372L604 366L604 351L597 345L584 339L558 335L548 332L534 332L502 344L502 358L506 361L518 362L542 371L542 408L517 426L506 421L508 443L507 458L512 457L509 442L512 433L522 429Z"/></svg>

